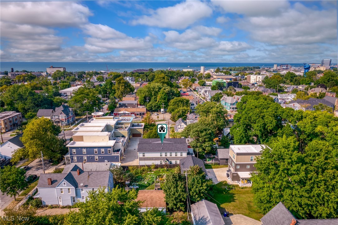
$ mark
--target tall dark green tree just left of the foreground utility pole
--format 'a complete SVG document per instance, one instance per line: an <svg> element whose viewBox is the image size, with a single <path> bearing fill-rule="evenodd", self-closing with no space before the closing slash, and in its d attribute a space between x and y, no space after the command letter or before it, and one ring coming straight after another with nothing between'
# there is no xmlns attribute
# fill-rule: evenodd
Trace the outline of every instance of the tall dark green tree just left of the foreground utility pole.
<svg viewBox="0 0 338 225"><path fill-rule="evenodd" d="M162 189L169 209L174 211L186 209L187 193L185 181L180 173L168 173Z"/></svg>

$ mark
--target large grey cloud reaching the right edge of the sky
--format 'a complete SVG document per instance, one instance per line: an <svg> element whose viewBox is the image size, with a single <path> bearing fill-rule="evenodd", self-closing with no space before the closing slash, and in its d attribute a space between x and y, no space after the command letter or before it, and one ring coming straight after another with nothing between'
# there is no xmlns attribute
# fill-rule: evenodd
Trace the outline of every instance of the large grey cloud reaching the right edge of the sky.
<svg viewBox="0 0 338 225"><path fill-rule="evenodd" d="M315 10L295 3L276 17L250 17L238 27L252 39L270 45L335 43L337 45L337 10Z"/></svg>

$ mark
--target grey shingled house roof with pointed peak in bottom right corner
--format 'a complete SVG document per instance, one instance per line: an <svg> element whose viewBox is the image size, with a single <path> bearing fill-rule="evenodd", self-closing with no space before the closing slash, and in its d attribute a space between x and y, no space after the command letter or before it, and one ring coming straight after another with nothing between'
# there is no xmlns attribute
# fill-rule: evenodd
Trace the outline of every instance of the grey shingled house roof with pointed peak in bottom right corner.
<svg viewBox="0 0 338 225"><path fill-rule="evenodd" d="M262 225L334 225L338 219L297 219L282 202L275 205L261 218Z"/></svg>

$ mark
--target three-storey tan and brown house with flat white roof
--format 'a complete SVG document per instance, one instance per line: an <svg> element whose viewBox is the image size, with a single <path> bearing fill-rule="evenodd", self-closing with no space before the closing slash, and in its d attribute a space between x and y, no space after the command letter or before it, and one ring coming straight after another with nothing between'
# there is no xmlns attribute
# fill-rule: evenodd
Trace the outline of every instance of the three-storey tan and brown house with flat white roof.
<svg viewBox="0 0 338 225"><path fill-rule="evenodd" d="M256 158L262 155L262 145L230 145L229 179L240 186L251 186L251 174L256 172Z"/></svg>

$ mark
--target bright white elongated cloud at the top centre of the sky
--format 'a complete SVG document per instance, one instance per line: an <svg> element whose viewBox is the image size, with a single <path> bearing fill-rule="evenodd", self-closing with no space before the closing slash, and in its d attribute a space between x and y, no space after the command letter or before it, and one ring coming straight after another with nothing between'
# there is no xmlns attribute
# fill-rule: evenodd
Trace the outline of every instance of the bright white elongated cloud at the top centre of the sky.
<svg viewBox="0 0 338 225"><path fill-rule="evenodd" d="M174 6L156 9L150 16L141 16L132 20L131 24L184 29L201 18L211 16L211 14L212 9L207 4L200 1L186 1Z"/></svg>

